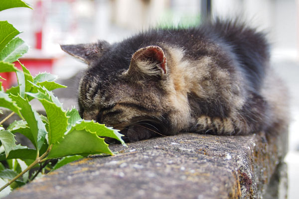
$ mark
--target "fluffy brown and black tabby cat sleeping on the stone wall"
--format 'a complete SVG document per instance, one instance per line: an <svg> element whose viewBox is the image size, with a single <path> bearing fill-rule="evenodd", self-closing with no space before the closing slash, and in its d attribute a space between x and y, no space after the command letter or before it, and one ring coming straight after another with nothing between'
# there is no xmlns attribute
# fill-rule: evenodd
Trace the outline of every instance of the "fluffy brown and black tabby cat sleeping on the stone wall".
<svg viewBox="0 0 299 199"><path fill-rule="evenodd" d="M215 19L61 48L89 65L79 85L81 116L120 129L127 142L287 126L288 97L269 66L269 45L244 23Z"/></svg>

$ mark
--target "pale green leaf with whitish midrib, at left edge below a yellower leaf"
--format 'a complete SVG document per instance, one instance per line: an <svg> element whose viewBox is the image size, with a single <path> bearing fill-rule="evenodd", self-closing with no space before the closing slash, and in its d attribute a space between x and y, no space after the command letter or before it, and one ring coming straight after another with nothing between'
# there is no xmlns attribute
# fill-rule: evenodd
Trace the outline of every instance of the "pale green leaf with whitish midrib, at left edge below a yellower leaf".
<svg viewBox="0 0 299 199"><path fill-rule="evenodd" d="M0 60L3 62L15 62L28 51L28 45L20 38L13 38L0 52Z"/></svg>

